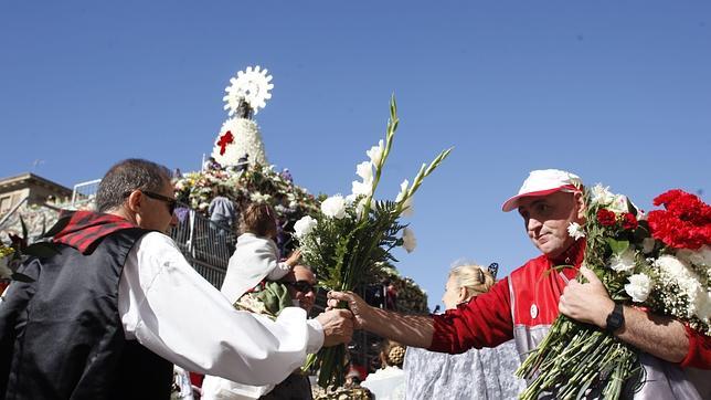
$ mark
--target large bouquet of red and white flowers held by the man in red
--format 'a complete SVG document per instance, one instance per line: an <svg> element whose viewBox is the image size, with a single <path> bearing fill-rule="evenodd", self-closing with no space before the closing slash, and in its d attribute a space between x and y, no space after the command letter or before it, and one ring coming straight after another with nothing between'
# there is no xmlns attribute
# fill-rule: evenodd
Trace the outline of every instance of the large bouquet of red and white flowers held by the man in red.
<svg viewBox="0 0 711 400"><path fill-rule="evenodd" d="M569 233L585 239L583 263L612 299L678 318L711 334L711 207L697 196L670 190L644 215L622 194L597 185L585 191L586 222ZM579 277L580 278L580 277ZM559 316L517 375L533 379L521 399L544 391L572 399L588 389L619 398L627 382L641 385L638 350L596 327ZM538 373L538 375L537 375Z"/></svg>

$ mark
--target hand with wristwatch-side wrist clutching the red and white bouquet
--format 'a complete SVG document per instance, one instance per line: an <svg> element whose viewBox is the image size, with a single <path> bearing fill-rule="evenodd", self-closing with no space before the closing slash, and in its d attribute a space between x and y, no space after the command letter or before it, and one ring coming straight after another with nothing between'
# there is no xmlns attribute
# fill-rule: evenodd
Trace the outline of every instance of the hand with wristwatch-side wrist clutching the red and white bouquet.
<svg viewBox="0 0 711 400"><path fill-rule="evenodd" d="M615 307L615 302L609 298L605 285L592 270L581 266L580 272L588 282L571 281L563 290L558 309L577 322L604 328L607 325L607 315Z"/></svg>

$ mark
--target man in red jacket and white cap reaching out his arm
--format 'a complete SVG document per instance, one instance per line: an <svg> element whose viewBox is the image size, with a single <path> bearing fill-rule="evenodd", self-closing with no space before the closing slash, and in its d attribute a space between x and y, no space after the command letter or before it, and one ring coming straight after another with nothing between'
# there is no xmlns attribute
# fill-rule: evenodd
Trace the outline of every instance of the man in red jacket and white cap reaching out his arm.
<svg viewBox="0 0 711 400"><path fill-rule="evenodd" d="M628 306L622 307L622 313L615 310L602 282L581 266L585 241L567 233L571 223L584 222L581 187L581 179L566 171L532 171L502 209L519 211L528 236L542 254L514 270L488 293L456 309L433 316L399 315L371 307L352 293L339 292L329 293L329 302L348 302L357 327L407 346L458 354L514 339L522 359L541 343L562 313L608 329L643 351L640 361L647 375L635 398L704 398L708 388L694 385L689 375L700 372L708 385L711 339L669 317ZM552 267L559 265L571 267L555 273ZM575 281L579 270L588 283ZM608 316L613 314L617 324L608 326ZM690 371L690 367L705 371Z"/></svg>

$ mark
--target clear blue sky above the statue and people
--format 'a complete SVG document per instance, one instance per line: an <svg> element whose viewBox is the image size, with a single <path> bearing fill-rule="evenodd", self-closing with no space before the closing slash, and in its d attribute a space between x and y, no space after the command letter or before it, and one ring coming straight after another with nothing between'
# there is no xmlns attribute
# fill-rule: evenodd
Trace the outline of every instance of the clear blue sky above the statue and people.
<svg viewBox="0 0 711 400"><path fill-rule="evenodd" d="M267 157L311 192L350 192L401 125L379 194L441 149L406 221L400 271L438 304L458 259L510 272L537 255L502 213L531 169L603 182L645 209L711 191L708 1L0 2L0 177L72 187L144 157L200 168L229 80L274 75Z"/></svg>

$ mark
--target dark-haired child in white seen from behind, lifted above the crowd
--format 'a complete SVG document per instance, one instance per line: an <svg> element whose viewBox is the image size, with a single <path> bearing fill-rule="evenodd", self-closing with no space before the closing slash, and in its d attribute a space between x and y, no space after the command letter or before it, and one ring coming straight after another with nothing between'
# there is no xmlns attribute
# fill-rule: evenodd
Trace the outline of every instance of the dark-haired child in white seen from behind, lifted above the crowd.
<svg viewBox="0 0 711 400"><path fill-rule="evenodd" d="M295 251L279 262L276 212L269 204L252 203L241 215L240 232L234 254L230 257L222 294L230 303L236 302L262 281L278 281L291 271L301 256Z"/></svg>

